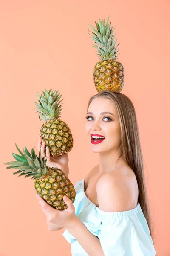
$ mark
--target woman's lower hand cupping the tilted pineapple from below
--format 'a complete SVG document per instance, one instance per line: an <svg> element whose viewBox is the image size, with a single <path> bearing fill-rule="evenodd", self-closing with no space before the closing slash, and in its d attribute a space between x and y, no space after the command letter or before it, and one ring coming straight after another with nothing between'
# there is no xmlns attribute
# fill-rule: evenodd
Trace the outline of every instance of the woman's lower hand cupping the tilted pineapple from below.
<svg viewBox="0 0 170 256"><path fill-rule="evenodd" d="M75 214L75 207L72 201L67 196L63 197L65 204L67 204L67 209L62 211L51 207L40 195L36 194L36 196L42 211L46 215L48 230L54 231L55 226L56 230L58 230L58 226L64 227L65 229L74 226L77 215Z"/></svg>

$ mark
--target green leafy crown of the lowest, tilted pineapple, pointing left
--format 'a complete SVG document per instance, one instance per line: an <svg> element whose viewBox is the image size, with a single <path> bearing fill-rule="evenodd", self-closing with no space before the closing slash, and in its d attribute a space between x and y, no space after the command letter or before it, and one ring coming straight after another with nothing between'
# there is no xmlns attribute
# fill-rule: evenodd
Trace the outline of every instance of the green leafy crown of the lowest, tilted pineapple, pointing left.
<svg viewBox="0 0 170 256"><path fill-rule="evenodd" d="M17 150L19 151L20 155L14 154L12 152L13 157L17 161L7 162L4 164L8 164L6 169L19 169L19 171L14 172L13 174L20 173L20 176L26 175L25 178L33 176L31 180L38 179L40 177L45 177L48 174L48 167L46 166L45 157L41 157L41 151L39 151L39 156L35 154L35 147L31 149L31 154L26 148L23 148L23 152L18 148L17 144L15 143Z"/></svg>

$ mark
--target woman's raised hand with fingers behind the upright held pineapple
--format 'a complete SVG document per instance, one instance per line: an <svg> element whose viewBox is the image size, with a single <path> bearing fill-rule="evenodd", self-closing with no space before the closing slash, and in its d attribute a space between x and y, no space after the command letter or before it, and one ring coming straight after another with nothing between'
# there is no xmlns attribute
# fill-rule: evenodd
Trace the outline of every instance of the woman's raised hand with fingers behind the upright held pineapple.
<svg viewBox="0 0 170 256"><path fill-rule="evenodd" d="M51 156L50 149L46 146L46 142L42 143L42 137L38 134L38 150L41 150L41 157L47 157L46 165L48 167L56 167L61 169L68 177L68 153L60 156Z"/></svg>

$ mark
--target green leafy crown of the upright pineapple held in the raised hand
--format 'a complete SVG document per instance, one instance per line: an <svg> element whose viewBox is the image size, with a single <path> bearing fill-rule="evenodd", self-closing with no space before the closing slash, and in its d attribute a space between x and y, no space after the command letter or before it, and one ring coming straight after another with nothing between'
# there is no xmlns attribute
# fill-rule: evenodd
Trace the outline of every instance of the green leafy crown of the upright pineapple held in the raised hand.
<svg viewBox="0 0 170 256"><path fill-rule="evenodd" d="M52 89L50 89L49 91L47 91L45 89L45 92L42 91L43 95L41 95L40 93L38 93L38 101L34 102L35 105L37 106L38 109L36 109L36 113L40 113L39 114L39 119L40 121L42 119L51 119L53 120L54 118L59 118L61 115L61 105L59 105L62 100L59 101L59 99L62 97L62 95L57 91L52 91ZM34 108L35 109L35 108Z"/></svg>

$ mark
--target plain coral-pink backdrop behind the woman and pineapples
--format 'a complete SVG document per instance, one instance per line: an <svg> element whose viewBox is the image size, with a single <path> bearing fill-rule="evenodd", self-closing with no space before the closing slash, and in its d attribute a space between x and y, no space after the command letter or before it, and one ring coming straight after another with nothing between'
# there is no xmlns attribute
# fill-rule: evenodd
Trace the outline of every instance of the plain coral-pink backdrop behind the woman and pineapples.
<svg viewBox="0 0 170 256"><path fill-rule="evenodd" d="M97 93L99 60L88 24L110 16L125 68L122 93L139 123L157 256L170 256L170 2L167 0L0 1L1 182L0 256L71 255L64 230L50 232L34 182L13 175L14 143L37 149L37 92L59 89L62 119L74 136L69 178L82 180L98 163L85 134L88 99ZM117 45L117 44L116 44ZM38 150L37 150L38 152ZM90 246L90 245L89 245Z"/></svg>

